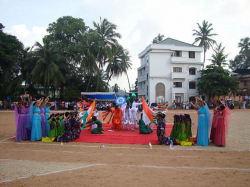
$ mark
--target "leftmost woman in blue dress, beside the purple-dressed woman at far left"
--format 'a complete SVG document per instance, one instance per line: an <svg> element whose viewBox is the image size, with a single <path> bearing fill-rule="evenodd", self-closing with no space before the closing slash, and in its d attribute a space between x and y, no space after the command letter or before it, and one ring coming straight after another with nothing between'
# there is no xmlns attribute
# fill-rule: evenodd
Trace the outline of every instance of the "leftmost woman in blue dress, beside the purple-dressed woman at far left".
<svg viewBox="0 0 250 187"><path fill-rule="evenodd" d="M37 100L34 104L30 105L30 116L32 119L32 129L31 129L31 141L39 141L42 139L42 126L41 126L41 116L39 106L42 103L42 99Z"/></svg>

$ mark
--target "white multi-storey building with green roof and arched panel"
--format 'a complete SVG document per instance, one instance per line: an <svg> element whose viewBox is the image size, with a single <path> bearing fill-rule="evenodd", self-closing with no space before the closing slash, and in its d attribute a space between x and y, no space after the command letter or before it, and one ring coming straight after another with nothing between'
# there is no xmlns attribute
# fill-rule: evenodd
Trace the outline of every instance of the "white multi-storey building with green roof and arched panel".
<svg viewBox="0 0 250 187"><path fill-rule="evenodd" d="M139 54L138 96L150 103L194 100L203 66L202 47L167 38Z"/></svg>

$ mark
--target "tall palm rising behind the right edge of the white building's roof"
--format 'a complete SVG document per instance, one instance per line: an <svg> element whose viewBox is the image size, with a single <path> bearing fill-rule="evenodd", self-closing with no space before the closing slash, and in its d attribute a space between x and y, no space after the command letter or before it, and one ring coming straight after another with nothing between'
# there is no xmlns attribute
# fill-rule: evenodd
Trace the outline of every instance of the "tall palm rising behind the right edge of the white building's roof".
<svg viewBox="0 0 250 187"><path fill-rule="evenodd" d="M194 29L193 36L197 36L193 44L199 42L199 46L204 48L204 63L206 60L206 52L211 48L213 45L216 44L216 41L213 40L211 37L216 36L218 34L212 33L212 23L208 23L208 21L204 20L202 22L202 26L197 23L198 30Z"/></svg>

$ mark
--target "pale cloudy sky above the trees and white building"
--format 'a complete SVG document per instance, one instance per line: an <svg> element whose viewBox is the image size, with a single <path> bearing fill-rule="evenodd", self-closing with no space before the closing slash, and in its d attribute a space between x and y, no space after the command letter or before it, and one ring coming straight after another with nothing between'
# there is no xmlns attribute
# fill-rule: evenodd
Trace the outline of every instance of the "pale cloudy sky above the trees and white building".
<svg viewBox="0 0 250 187"><path fill-rule="evenodd" d="M42 43L48 25L60 17L82 18L91 28L93 21L106 18L117 25L119 43L131 56L131 84L140 66L138 54L159 33L192 44L192 30L206 20L213 24L218 34L213 39L225 46L228 60L238 54L240 39L250 37L250 0L0 0L0 7L4 32L15 35L25 47ZM206 53L205 65L212 53ZM110 85L115 83L129 90L126 75L113 78Z"/></svg>

